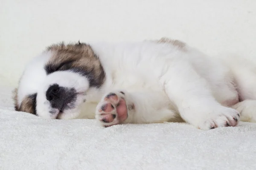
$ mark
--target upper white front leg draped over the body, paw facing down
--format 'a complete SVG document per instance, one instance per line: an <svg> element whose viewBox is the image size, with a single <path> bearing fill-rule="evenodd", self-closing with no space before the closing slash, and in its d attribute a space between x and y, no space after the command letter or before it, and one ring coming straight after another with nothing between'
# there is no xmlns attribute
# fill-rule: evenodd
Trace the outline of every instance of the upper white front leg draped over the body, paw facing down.
<svg viewBox="0 0 256 170"><path fill-rule="evenodd" d="M186 61L175 63L161 80L186 122L202 130L237 125L239 113L218 103L209 82Z"/></svg>

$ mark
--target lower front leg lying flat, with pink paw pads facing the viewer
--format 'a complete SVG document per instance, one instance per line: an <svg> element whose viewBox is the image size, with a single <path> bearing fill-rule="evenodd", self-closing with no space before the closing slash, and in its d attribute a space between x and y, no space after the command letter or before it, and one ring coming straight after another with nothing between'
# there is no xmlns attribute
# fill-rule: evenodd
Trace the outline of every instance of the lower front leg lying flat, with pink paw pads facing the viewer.
<svg viewBox="0 0 256 170"><path fill-rule="evenodd" d="M164 92L112 91L96 107L96 119L108 127L125 123L177 121L177 113Z"/></svg>

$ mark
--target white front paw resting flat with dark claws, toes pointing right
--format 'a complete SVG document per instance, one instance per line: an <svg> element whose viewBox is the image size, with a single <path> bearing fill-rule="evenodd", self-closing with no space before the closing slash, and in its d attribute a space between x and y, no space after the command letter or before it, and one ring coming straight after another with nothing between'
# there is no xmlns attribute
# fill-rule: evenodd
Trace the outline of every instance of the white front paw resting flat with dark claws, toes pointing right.
<svg viewBox="0 0 256 170"><path fill-rule="evenodd" d="M199 125L199 129L209 130L216 127L236 126L239 120L240 114L238 111L232 108L221 107L218 111L210 113L207 120Z"/></svg>

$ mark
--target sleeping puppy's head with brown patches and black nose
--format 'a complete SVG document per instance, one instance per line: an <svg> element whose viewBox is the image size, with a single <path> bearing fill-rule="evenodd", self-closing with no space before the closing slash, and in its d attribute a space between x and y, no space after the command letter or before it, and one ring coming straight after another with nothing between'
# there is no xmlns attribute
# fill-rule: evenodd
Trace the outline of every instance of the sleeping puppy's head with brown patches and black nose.
<svg viewBox="0 0 256 170"><path fill-rule="evenodd" d="M52 45L26 66L15 90L15 110L48 119L74 119L105 72L90 45Z"/></svg>

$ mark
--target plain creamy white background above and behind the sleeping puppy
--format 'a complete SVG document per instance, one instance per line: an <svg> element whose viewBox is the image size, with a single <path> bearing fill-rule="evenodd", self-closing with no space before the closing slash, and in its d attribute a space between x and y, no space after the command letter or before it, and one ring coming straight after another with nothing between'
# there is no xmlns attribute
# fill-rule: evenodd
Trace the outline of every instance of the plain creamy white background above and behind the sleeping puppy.
<svg viewBox="0 0 256 170"><path fill-rule="evenodd" d="M256 0L0 0L0 81L59 41L171 37L201 51L256 57Z"/></svg>

